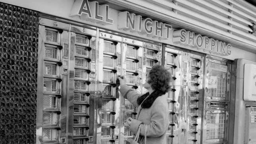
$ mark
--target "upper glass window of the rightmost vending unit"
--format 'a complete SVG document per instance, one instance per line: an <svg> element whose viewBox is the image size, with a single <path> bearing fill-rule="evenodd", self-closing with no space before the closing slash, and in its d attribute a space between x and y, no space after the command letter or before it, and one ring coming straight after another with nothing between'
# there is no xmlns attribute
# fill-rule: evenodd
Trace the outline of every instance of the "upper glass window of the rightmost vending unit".
<svg viewBox="0 0 256 144"><path fill-rule="evenodd" d="M209 63L208 96L226 97L227 66Z"/></svg>

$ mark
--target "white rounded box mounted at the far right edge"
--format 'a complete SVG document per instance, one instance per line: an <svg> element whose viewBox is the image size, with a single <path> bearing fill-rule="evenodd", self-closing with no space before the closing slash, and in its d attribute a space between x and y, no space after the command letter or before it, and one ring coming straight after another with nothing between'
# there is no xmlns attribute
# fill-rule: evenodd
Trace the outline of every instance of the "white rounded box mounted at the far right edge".
<svg viewBox="0 0 256 144"><path fill-rule="evenodd" d="M255 64L244 64L244 100L256 101Z"/></svg>

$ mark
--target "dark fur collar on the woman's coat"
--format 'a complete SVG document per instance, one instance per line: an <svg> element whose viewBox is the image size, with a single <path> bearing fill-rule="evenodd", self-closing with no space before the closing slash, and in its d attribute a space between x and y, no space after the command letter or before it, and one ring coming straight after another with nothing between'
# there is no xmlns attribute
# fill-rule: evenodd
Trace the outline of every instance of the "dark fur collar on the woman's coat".
<svg viewBox="0 0 256 144"><path fill-rule="evenodd" d="M147 92L146 94L143 94L142 96L140 96L137 99L137 103L140 105L143 100L149 95L149 92ZM146 98L146 100L144 100L144 102L141 104L141 108L150 108L152 106L152 104L154 103L154 101L156 100L156 98L158 98L158 96L162 96L163 93L158 91L158 90L154 90L150 96L148 96L148 98Z"/></svg>

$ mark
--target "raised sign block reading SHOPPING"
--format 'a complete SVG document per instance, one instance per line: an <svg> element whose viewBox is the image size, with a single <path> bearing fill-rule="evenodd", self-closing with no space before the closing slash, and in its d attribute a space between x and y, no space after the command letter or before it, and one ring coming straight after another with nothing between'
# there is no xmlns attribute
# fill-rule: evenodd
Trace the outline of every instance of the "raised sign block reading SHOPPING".
<svg viewBox="0 0 256 144"><path fill-rule="evenodd" d="M180 29L173 31L173 43L190 45L198 50L204 50L213 54L230 55L231 44L226 44L207 36L196 35L191 31Z"/></svg>

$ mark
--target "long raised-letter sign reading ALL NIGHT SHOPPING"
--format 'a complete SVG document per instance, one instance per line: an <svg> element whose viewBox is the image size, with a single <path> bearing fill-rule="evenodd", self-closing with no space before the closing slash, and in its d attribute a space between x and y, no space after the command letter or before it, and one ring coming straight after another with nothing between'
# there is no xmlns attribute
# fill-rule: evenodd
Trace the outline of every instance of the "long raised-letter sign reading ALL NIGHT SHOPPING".
<svg viewBox="0 0 256 144"><path fill-rule="evenodd" d="M174 30L171 25L142 17L127 11L117 10L110 12L108 4L98 4L96 1L75 0L70 17L79 16L83 21L91 21L100 25L112 25L115 29L130 31L136 35L146 35L157 40L170 40L173 43L189 45L202 52L229 56L231 55L231 44L215 40L203 35L196 35L185 29ZM167 42L168 43L168 42Z"/></svg>

